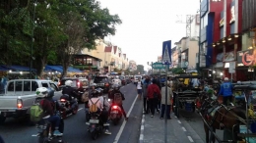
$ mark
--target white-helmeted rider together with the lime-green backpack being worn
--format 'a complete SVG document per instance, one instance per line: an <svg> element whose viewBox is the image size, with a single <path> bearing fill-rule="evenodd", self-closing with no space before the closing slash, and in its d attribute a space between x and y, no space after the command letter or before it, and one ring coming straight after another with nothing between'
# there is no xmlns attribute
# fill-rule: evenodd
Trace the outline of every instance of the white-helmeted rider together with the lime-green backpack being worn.
<svg viewBox="0 0 256 143"><path fill-rule="evenodd" d="M34 102L39 103L38 106L43 111L39 117L43 118L46 116L50 116L48 118L48 121L50 121L52 124L55 125L53 126L55 128L55 130L53 131L53 135L62 136L63 133L59 131L60 117L54 115L54 102L52 103L50 100L47 100L47 98L51 96L49 94L49 90L45 87L39 87L36 89L35 93L36 93L36 99ZM36 118L33 118L33 116L38 115L38 112L40 112L40 110L33 110L33 109L36 109L36 106L33 106L31 109L31 119L36 119Z"/></svg>

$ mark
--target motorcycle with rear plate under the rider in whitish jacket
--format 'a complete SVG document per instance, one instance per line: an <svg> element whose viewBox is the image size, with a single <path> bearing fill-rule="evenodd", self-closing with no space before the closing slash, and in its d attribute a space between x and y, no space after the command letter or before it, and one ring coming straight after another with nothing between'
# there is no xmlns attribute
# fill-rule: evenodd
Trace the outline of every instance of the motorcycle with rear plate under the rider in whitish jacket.
<svg viewBox="0 0 256 143"><path fill-rule="evenodd" d="M91 133L91 137L96 138L103 132L103 125L100 122L99 115L97 113L90 114L90 120L87 122L89 125L88 131Z"/></svg>

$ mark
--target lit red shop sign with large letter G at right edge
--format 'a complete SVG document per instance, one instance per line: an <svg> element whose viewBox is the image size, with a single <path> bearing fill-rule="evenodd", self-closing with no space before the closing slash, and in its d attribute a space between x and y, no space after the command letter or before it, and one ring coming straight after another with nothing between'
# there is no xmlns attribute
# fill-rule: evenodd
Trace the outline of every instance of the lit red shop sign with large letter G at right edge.
<svg viewBox="0 0 256 143"><path fill-rule="evenodd" d="M256 49L237 52L237 67L256 65Z"/></svg>

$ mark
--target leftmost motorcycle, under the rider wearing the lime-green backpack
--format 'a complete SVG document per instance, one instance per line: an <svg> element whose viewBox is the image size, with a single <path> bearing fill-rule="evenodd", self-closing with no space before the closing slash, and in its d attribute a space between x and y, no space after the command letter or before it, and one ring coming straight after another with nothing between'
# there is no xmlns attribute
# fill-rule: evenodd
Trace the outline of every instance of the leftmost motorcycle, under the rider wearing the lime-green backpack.
<svg viewBox="0 0 256 143"><path fill-rule="evenodd" d="M60 114L57 113L56 115L58 115L60 117ZM34 137L38 137L38 143L50 143L50 142L54 142L55 138L58 140L58 142L63 142L62 141L62 136L54 136L53 135L53 131L54 131L54 124L51 124L50 121L48 121L48 118L50 116L47 116L43 119L41 119L39 121L38 124L36 124L36 128L38 129L38 133L34 134L32 136ZM59 126L59 131L61 133L64 132L64 120L61 119L60 120L60 126Z"/></svg>

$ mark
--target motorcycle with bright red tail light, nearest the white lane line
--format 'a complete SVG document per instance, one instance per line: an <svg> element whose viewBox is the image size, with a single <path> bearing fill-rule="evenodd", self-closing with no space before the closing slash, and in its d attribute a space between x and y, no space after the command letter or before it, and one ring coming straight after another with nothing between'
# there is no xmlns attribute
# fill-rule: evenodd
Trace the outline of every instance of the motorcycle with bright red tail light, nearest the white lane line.
<svg viewBox="0 0 256 143"><path fill-rule="evenodd" d="M119 120L122 119L122 115L123 114L122 114L121 108L116 104L112 105L112 107L110 109L110 117L109 118L113 121L114 125L116 125L119 122Z"/></svg>

